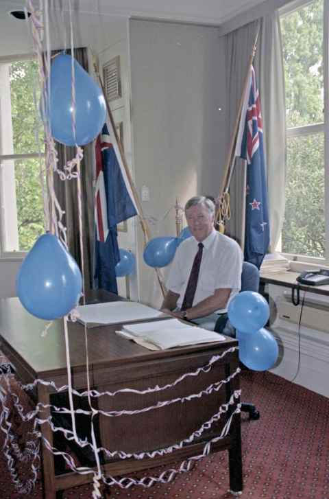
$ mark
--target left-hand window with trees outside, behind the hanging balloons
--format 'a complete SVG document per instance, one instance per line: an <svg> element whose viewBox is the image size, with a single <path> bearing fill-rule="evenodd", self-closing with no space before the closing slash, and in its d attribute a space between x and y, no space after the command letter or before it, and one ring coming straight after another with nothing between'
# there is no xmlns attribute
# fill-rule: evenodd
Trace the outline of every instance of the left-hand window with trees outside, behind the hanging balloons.
<svg viewBox="0 0 329 499"><path fill-rule="evenodd" d="M2 256L28 251L44 231L40 182L44 142L36 105L39 98L36 60L0 58Z"/></svg>

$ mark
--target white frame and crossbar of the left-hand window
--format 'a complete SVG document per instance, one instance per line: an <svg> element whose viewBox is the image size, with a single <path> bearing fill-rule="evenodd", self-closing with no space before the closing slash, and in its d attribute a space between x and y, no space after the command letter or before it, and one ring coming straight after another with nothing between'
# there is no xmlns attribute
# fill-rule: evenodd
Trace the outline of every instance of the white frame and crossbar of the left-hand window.
<svg viewBox="0 0 329 499"><path fill-rule="evenodd" d="M15 56L0 56L1 64L10 64L11 62L25 61L25 60L35 60L36 56L34 54L17 54ZM1 113L1 108L0 108ZM42 152L29 152L26 154L0 154L0 183L2 185L3 178L3 167L5 161L8 160L22 160L22 159L40 159L44 158L45 154ZM0 262L21 262L23 258L27 255L27 251L5 251L3 249L3 225L4 225L4 211L5 206L3 205L2 191L0 189Z"/></svg>

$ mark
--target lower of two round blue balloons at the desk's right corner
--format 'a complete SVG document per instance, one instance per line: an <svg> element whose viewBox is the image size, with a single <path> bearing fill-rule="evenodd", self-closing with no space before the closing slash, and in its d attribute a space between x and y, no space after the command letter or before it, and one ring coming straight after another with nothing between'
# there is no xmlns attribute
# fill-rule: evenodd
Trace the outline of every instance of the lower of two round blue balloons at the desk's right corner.
<svg viewBox="0 0 329 499"><path fill-rule="evenodd" d="M278 343L273 334L262 327L259 331L241 336L239 339L241 362L254 371L271 369L279 354Z"/></svg>

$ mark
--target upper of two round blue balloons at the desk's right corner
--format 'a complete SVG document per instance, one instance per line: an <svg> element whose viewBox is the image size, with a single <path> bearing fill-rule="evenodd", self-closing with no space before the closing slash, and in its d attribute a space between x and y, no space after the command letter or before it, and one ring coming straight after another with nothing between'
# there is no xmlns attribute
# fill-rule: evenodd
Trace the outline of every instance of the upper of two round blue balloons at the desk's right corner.
<svg viewBox="0 0 329 499"><path fill-rule="evenodd" d="M235 295L228 305L232 325L242 332L258 331L269 318L269 305L261 294L243 291Z"/></svg>

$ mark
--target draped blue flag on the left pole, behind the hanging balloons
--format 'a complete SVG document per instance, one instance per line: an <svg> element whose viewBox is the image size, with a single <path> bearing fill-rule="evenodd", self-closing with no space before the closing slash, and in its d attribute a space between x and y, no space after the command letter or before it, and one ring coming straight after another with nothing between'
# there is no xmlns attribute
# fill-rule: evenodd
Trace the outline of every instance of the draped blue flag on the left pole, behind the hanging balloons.
<svg viewBox="0 0 329 499"><path fill-rule="evenodd" d="M110 123L97 137L95 156L95 286L117 293L117 224L137 215L138 209Z"/></svg>

